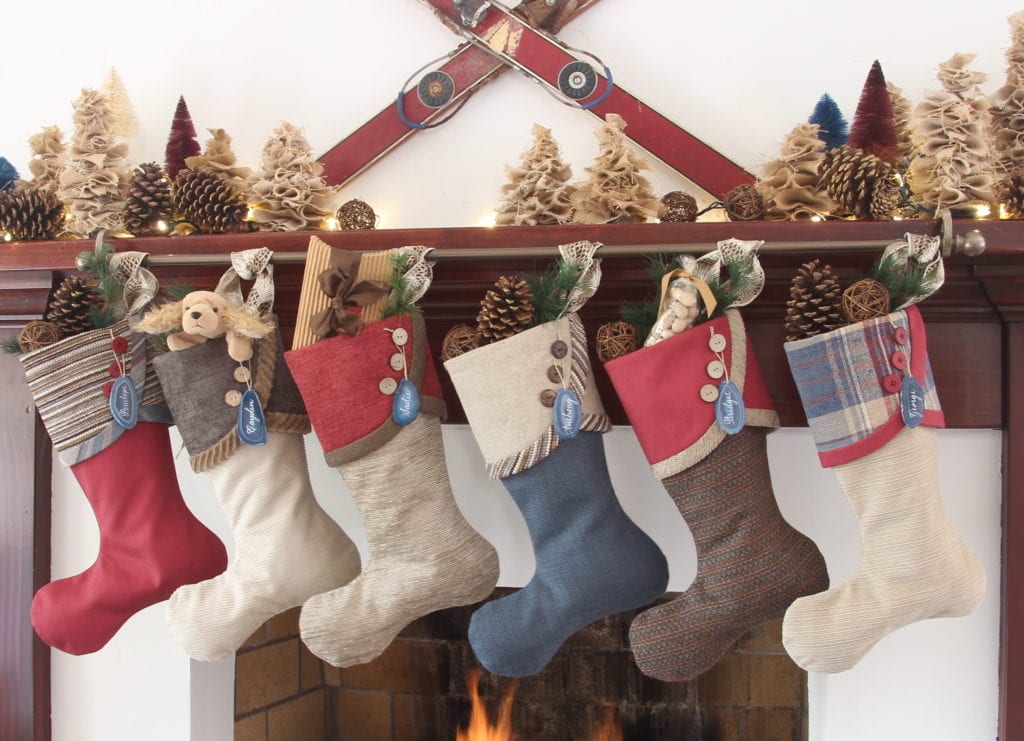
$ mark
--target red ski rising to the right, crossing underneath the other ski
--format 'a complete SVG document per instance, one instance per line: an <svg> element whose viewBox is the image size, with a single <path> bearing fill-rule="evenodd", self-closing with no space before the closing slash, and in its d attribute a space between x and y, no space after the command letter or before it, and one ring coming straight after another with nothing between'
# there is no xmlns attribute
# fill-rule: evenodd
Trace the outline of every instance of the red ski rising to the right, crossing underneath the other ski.
<svg viewBox="0 0 1024 741"><path fill-rule="evenodd" d="M598 1L580 2L570 14L569 20L596 5ZM403 101L406 116L417 124L430 124L442 120L481 86L507 72L509 67L501 57L467 42L459 46L451 58L436 69L452 76L455 82L455 95L447 103L437 108L430 108L421 103L415 92L406 95ZM348 182L418 131L419 129L407 126L398 118L394 102L389 103L387 107L321 156L325 179L332 185Z"/></svg>

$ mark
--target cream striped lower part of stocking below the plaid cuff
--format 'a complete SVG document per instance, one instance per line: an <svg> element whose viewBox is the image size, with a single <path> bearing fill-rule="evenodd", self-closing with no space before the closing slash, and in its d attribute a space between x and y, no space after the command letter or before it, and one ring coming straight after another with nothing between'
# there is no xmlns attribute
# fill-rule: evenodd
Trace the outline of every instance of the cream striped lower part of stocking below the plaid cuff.
<svg viewBox="0 0 1024 741"><path fill-rule="evenodd" d="M936 432L904 428L834 468L860 526L860 569L842 586L793 603L782 643L808 671L844 671L893 630L971 613L985 571L939 497Z"/></svg>

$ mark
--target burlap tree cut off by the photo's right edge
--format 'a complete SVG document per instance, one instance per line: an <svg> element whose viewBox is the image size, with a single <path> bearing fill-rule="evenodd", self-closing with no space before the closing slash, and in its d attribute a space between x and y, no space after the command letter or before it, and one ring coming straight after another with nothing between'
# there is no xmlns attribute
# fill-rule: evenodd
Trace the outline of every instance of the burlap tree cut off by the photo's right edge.
<svg viewBox="0 0 1024 741"><path fill-rule="evenodd" d="M1024 11L1010 16L1010 40L1007 79L991 98L992 145L998 175L1024 168Z"/></svg>

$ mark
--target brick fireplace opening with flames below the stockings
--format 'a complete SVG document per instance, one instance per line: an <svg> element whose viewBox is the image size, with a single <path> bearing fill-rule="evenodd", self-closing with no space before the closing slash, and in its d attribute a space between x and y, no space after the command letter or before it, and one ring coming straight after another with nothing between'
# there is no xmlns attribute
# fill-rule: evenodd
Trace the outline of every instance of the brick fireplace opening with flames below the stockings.
<svg viewBox="0 0 1024 741"><path fill-rule="evenodd" d="M374 661L342 669L302 646L297 610L278 616L239 652L236 741L807 739L807 677L782 648L781 621L742 637L700 678L665 683L637 668L628 641L636 611L624 612L513 681L473 655L466 636L477 607L426 615ZM490 735L460 735L474 717Z"/></svg>

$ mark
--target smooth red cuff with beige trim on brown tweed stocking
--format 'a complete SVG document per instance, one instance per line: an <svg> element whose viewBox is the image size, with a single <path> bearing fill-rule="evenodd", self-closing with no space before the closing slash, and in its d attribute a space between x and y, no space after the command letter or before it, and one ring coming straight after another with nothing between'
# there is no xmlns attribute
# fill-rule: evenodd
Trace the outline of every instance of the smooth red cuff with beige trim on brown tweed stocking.
<svg viewBox="0 0 1024 741"><path fill-rule="evenodd" d="M712 337L724 339L721 359L709 344ZM726 432L715 419L722 381L739 389L746 425L778 427L778 415L738 311L726 311L604 367L659 479L698 464L725 439ZM705 387L715 393L709 394Z"/></svg>

